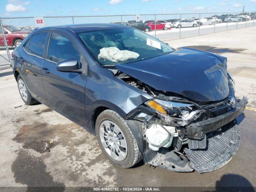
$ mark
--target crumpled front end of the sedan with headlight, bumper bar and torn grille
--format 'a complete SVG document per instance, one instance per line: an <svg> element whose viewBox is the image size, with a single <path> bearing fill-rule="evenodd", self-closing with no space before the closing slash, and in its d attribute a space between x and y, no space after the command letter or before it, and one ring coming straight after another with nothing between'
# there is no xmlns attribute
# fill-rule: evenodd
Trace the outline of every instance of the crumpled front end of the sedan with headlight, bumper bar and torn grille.
<svg viewBox="0 0 256 192"><path fill-rule="evenodd" d="M228 96L212 102L160 92L122 72L116 76L153 97L124 116L142 123L145 163L176 172L204 173L224 166L238 150L236 118L248 101L235 98L230 74Z"/></svg>

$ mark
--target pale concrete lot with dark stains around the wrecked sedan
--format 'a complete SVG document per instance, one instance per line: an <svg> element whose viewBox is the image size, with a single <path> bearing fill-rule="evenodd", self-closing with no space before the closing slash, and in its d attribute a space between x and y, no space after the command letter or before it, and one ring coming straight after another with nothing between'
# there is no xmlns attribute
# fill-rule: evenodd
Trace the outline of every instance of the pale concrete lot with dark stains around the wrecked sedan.
<svg viewBox="0 0 256 192"><path fill-rule="evenodd" d="M176 173L139 163L112 166L96 138L43 104L26 106L10 70L0 72L0 187L3 186L256 186L256 27L168 42L228 57L237 96L249 107L238 117L241 144L211 173ZM53 144L49 142L53 140ZM65 188L62 188L63 190ZM62 190L62 191L63 191ZM19 190L20 191L20 190ZM22 188L26 191L26 188Z"/></svg>

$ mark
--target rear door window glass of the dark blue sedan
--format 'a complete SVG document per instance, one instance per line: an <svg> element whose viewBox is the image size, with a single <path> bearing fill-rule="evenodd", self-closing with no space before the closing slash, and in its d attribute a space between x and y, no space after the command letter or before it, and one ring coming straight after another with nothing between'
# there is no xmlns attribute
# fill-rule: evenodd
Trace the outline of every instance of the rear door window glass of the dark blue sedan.
<svg viewBox="0 0 256 192"><path fill-rule="evenodd" d="M47 34L47 32L43 32L33 35L30 38L28 52L42 57Z"/></svg>

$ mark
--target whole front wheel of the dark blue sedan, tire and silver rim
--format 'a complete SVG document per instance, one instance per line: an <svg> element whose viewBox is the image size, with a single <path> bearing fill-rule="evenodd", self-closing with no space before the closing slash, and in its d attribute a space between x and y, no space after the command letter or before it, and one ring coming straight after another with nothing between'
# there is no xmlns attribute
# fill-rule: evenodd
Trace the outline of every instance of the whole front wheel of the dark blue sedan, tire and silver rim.
<svg viewBox="0 0 256 192"><path fill-rule="evenodd" d="M130 168L142 159L132 131L118 113L112 110L100 113L95 132L102 152L112 164Z"/></svg>

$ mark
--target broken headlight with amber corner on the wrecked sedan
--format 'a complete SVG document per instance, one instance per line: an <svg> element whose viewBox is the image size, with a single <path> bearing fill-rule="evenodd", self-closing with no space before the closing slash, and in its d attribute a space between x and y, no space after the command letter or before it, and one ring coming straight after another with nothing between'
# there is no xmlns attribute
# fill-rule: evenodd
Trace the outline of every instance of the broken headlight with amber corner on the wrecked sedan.
<svg viewBox="0 0 256 192"><path fill-rule="evenodd" d="M198 109L194 104L160 99L149 100L145 104L174 126L186 126L202 114L202 110Z"/></svg>

